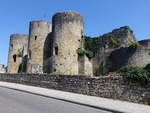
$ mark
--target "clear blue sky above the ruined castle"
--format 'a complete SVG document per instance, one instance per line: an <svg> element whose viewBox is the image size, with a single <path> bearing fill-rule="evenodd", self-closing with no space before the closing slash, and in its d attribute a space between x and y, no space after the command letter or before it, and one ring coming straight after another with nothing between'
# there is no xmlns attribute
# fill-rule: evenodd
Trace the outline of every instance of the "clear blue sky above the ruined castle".
<svg viewBox="0 0 150 113"><path fill-rule="evenodd" d="M150 38L150 0L0 0L0 64L7 65L10 34L28 33L29 21L51 21L67 10L84 16L86 35L128 25L138 40Z"/></svg>

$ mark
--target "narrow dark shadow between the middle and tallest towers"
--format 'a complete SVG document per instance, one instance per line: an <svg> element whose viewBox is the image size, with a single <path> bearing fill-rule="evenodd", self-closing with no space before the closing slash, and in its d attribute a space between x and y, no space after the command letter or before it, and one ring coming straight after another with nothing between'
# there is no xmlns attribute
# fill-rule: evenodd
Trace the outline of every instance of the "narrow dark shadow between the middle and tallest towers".
<svg viewBox="0 0 150 113"><path fill-rule="evenodd" d="M50 57L53 54L52 32L48 34L44 42L43 73L50 73Z"/></svg>

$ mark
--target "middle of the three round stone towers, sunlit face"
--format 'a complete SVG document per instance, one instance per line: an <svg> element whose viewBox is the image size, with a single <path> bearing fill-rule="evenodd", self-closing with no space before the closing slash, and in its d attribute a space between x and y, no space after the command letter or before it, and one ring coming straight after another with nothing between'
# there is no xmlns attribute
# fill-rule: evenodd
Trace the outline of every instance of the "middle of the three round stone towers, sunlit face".
<svg viewBox="0 0 150 113"><path fill-rule="evenodd" d="M51 23L44 20L31 21L28 42L28 73L43 73L45 41L51 32Z"/></svg>

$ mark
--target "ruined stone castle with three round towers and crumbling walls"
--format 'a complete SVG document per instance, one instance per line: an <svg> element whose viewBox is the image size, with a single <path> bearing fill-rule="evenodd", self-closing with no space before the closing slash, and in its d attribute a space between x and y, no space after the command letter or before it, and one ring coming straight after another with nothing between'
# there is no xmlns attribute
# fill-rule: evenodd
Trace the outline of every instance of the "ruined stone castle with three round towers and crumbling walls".
<svg viewBox="0 0 150 113"><path fill-rule="evenodd" d="M31 21L29 35L11 35L7 72L100 75L149 63L150 40L136 41L128 26L84 36L83 16L68 11L56 13L52 23Z"/></svg>

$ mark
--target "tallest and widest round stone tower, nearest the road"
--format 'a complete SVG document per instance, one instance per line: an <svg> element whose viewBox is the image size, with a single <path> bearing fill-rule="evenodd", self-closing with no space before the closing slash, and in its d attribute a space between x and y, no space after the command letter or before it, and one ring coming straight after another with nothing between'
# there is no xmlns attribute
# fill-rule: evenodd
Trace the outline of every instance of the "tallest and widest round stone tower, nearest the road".
<svg viewBox="0 0 150 113"><path fill-rule="evenodd" d="M53 52L51 72L78 74L78 54L83 35L83 17L73 11L58 12L52 18Z"/></svg>

